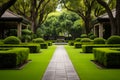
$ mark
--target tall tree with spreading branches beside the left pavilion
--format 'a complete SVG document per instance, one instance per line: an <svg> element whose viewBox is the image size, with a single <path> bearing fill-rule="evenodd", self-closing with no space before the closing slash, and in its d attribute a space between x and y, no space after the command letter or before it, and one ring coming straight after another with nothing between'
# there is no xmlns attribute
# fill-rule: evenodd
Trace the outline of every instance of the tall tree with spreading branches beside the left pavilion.
<svg viewBox="0 0 120 80"><path fill-rule="evenodd" d="M44 22L56 4L57 0L19 0L12 10L28 18L32 22L32 31L35 33L38 25Z"/></svg>

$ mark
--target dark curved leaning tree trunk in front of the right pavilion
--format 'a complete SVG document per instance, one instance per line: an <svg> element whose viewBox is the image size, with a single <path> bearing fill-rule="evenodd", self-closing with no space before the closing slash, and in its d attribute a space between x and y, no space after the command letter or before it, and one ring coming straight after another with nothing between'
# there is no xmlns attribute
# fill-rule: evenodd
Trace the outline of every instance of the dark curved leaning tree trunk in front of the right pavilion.
<svg viewBox="0 0 120 80"><path fill-rule="evenodd" d="M109 1L113 1L113 0L109 0ZM108 2L109 2L108 1ZM118 0L119 1L119 0ZM105 10L107 11L107 13L108 13L108 16L109 16L109 18L110 18L110 24L111 24L111 34L112 35L114 35L114 34L118 34L118 31L117 31L117 25L116 25L116 20L117 19L115 19L115 17L113 16L113 14L112 14L112 10L110 9L110 7L109 7L109 5L107 4L107 2L106 2L106 0L97 0L97 2L100 4L100 5L102 5L104 8L105 8ZM117 10L116 10L116 12L118 12ZM118 16L118 15L116 15L116 16ZM119 21L119 20L118 20Z"/></svg>

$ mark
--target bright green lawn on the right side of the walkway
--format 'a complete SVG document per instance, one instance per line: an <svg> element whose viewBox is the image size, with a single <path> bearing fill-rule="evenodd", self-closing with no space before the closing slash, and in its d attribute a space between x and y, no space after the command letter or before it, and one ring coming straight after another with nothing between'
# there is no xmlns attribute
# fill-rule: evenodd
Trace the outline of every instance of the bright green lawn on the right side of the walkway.
<svg viewBox="0 0 120 80"><path fill-rule="evenodd" d="M120 80L120 69L100 69L90 60L93 54L80 53L81 49L65 46L80 80Z"/></svg>

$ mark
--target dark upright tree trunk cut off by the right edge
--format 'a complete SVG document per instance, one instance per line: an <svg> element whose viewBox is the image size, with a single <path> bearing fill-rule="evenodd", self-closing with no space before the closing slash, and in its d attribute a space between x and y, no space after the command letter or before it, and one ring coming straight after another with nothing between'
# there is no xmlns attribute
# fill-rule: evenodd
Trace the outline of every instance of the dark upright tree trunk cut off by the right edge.
<svg viewBox="0 0 120 80"><path fill-rule="evenodd" d="M116 0L116 24L117 33L120 35L120 0Z"/></svg>

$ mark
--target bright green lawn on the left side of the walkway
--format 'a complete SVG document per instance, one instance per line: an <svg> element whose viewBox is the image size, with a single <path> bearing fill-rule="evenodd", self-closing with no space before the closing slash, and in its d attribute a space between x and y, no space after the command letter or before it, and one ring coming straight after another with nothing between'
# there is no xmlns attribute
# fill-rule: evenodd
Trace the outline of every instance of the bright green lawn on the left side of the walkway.
<svg viewBox="0 0 120 80"><path fill-rule="evenodd" d="M30 54L28 63L22 70L0 70L0 80L42 80L47 65L56 46L42 49L41 53Z"/></svg>

